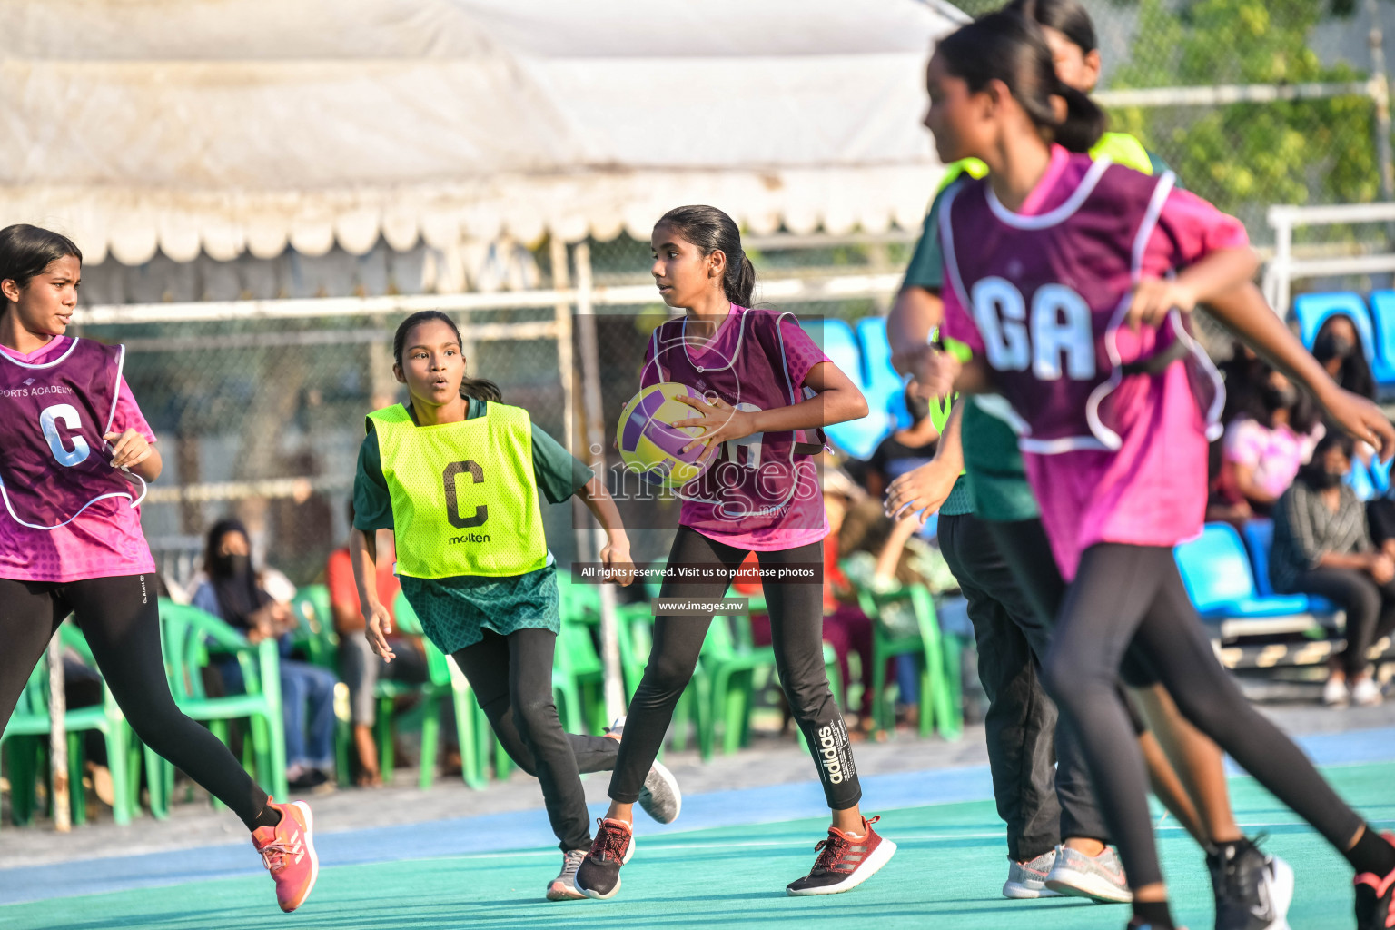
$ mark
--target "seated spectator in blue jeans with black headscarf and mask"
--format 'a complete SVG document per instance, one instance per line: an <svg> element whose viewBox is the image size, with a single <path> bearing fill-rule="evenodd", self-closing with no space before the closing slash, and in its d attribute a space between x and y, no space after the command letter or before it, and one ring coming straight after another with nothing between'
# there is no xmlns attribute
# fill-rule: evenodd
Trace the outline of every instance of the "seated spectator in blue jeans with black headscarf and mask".
<svg viewBox="0 0 1395 930"><path fill-rule="evenodd" d="M247 528L219 520L208 534L204 555L208 580L194 591L194 607L247 634L252 644L280 637L280 706L286 724L286 778L296 791L332 785L335 764L335 685L329 669L290 660L289 637L296 620L290 609L264 590L252 570ZM229 692L246 689L236 661L218 665Z"/></svg>

